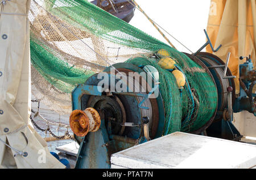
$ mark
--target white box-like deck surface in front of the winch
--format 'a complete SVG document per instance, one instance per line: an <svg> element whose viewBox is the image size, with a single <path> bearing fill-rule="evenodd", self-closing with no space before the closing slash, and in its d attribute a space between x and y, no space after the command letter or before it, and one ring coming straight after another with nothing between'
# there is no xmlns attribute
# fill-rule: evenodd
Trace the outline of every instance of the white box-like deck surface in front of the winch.
<svg viewBox="0 0 256 180"><path fill-rule="evenodd" d="M112 155L112 168L255 168L256 145L175 132Z"/></svg>

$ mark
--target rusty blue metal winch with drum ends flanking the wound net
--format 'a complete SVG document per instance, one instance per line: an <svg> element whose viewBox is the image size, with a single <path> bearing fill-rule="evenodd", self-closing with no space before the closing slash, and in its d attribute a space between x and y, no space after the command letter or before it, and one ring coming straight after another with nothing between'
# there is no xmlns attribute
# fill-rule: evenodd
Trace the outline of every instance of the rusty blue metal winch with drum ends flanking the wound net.
<svg viewBox="0 0 256 180"><path fill-rule="evenodd" d="M253 93L256 74L250 56L246 57L246 62L240 65L240 94L237 95L234 76L228 68L230 54L226 64L210 53L197 52L193 55L186 53L185 55L200 63L212 74L218 93L218 106L214 120L197 133L240 140L242 135L232 124L233 112L246 110L256 116L255 93ZM240 59L242 60L243 57ZM104 70L104 76L110 82L109 87L98 86L102 78L98 78L99 74L94 74L84 84L78 85L73 90L72 107L75 112L73 117L85 118L85 113L89 117L88 126L93 125L95 129L98 125L97 131L88 128L87 132L83 132L85 136L77 136L74 132L75 139L80 144L76 168L110 168L110 157L113 153L162 136L165 110L161 92L155 98L148 98L149 95L154 96L158 83L153 83L151 91L147 93L130 92L129 86L127 93L111 91L110 87L115 87L118 83L114 77L116 72L110 73L112 67L125 74L146 71L143 66L129 63L114 64ZM142 78L137 86L140 86L142 81L148 81L148 79ZM90 107L94 108L98 115L88 114L86 109ZM93 122L95 116L100 117L99 124ZM86 122L86 118L84 120ZM77 131L80 125L85 125L76 123Z"/></svg>

